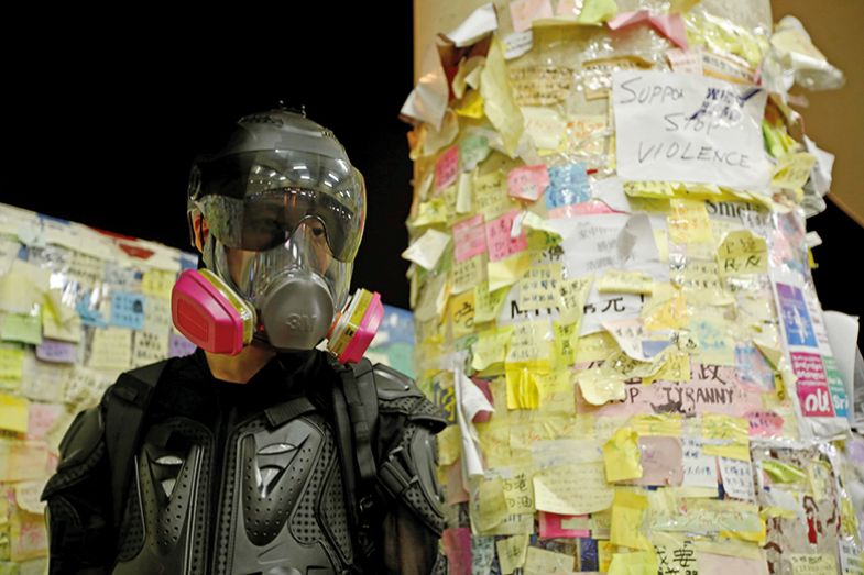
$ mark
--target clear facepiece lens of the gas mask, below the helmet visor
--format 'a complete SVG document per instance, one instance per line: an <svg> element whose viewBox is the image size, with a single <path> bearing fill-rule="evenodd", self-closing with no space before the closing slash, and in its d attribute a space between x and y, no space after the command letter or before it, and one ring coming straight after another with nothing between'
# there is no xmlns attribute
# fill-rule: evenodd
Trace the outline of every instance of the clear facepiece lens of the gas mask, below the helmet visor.
<svg viewBox="0 0 864 575"><path fill-rule="evenodd" d="M296 272L321 277L330 289L335 309L340 309L348 299L352 264L333 256L318 220L300 222L288 240L265 251L219 244L215 250L219 275L226 280L230 278L231 287L259 310L266 291L278 284L280 276Z"/></svg>

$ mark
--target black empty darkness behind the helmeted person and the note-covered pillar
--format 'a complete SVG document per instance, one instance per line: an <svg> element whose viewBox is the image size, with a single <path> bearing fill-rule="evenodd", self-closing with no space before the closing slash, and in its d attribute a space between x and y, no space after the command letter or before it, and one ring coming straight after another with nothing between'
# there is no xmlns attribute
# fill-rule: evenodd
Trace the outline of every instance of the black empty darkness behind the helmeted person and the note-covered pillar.
<svg viewBox="0 0 864 575"><path fill-rule="evenodd" d="M190 251L196 154L215 151L242 114L305 104L367 179L354 285L406 308L411 162L397 114L413 86L411 2L289 4L8 21L8 33L23 30L4 41L12 155L0 201ZM861 314L864 230L831 202L809 228L824 241L814 251L823 307Z"/></svg>

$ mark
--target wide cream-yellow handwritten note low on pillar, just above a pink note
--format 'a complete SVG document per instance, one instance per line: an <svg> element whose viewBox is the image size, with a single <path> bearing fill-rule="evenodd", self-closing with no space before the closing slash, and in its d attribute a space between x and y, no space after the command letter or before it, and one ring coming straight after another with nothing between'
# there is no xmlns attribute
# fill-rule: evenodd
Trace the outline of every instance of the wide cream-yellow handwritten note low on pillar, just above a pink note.
<svg viewBox="0 0 864 575"><path fill-rule="evenodd" d="M540 511L593 513L608 509L613 496L602 462L558 465L534 474L534 505Z"/></svg>

